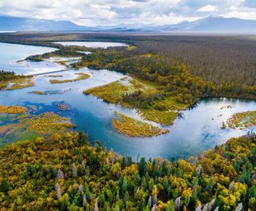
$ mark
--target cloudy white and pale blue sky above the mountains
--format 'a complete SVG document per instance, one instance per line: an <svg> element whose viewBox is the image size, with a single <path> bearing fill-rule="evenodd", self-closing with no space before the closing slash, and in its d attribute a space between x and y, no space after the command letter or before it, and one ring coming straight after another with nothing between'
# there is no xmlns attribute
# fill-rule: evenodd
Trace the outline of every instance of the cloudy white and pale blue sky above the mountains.
<svg viewBox="0 0 256 211"><path fill-rule="evenodd" d="M165 25L210 15L256 20L256 0L0 0L0 14L84 26Z"/></svg>

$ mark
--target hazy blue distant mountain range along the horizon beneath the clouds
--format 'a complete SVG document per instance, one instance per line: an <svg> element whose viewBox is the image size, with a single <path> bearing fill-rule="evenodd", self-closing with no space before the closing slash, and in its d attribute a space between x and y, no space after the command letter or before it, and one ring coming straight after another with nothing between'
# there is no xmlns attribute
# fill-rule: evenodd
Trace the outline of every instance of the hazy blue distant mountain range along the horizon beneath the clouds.
<svg viewBox="0 0 256 211"><path fill-rule="evenodd" d="M210 16L163 26L78 26L69 21L0 16L0 31L206 32L256 33L256 21Z"/></svg>

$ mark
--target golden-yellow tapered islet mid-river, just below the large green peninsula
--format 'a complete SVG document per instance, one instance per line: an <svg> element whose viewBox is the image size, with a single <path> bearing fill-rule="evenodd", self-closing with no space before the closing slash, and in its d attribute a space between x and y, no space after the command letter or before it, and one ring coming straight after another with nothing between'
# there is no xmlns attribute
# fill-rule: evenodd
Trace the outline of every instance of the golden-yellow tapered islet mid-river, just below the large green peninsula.
<svg viewBox="0 0 256 211"><path fill-rule="evenodd" d="M153 137L169 133L169 129L160 129L146 122L138 121L127 117L122 113L115 112L116 117L112 119L112 126L118 131L129 137Z"/></svg>

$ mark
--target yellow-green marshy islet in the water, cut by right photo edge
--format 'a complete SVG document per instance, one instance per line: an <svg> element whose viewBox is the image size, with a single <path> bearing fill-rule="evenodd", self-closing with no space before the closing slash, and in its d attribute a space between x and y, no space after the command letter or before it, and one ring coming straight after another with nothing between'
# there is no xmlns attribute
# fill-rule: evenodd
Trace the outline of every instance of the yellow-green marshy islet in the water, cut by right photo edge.
<svg viewBox="0 0 256 211"><path fill-rule="evenodd" d="M230 117L226 121L227 125L230 128L249 128L254 125L256 125L256 111L246 111L246 112L240 112L235 113L232 117Z"/></svg>

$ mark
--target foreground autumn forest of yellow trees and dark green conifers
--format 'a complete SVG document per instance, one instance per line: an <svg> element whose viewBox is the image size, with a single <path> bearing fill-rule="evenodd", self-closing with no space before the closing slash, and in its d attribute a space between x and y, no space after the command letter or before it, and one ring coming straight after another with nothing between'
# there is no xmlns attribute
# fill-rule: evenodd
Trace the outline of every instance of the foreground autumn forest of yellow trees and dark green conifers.
<svg viewBox="0 0 256 211"><path fill-rule="evenodd" d="M91 147L87 138L65 133L0 149L2 209L165 211L175 204L179 210L201 205L227 211L241 203L244 210L256 206L253 134L189 160L137 162Z"/></svg>

